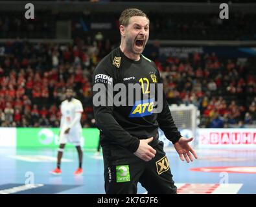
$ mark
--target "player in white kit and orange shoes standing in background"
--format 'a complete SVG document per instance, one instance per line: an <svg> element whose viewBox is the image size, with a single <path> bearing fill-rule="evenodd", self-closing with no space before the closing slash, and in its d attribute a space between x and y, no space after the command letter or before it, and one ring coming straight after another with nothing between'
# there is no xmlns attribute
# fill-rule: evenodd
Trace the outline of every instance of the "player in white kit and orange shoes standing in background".
<svg viewBox="0 0 256 207"><path fill-rule="evenodd" d="M60 175L62 173L60 169L60 164L62 160L62 155L64 152L64 147L67 142L74 144L78 152L79 166L75 171L75 175L82 174L82 157L83 152L81 149L80 140L82 137L82 126L80 124L81 115L83 112L82 103L80 100L73 98L73 89L67 88L66 98L60 106L60 111L62 117L60 119L60 148L58 149L58 160L57 167L52 174Z"/></svg>

